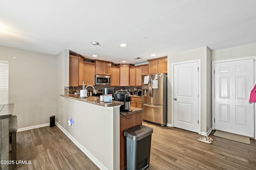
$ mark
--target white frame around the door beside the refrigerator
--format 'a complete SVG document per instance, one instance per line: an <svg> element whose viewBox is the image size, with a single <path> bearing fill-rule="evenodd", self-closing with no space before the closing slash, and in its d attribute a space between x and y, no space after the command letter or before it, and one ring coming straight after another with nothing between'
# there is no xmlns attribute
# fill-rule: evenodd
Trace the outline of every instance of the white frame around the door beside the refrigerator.
<svg viewBox="0 0 256 170"><path fill-rule="evenodd" d="M181 61L172 63L171 70L172 70L172 127L174 127L174 65L177 64L186 64L186 63L194 63L198 62L198 134L201 134L201 59L189 60L189 61Z"/></svg>

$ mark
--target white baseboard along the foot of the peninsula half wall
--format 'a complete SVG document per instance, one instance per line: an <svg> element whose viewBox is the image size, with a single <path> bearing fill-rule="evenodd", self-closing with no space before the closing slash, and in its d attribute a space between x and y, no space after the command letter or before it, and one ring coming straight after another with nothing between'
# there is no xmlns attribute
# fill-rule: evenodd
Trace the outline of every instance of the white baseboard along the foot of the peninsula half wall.
<svg viewBox="0 0 256 170"><path fill-rule="evenodd" d="M73 136L71 134L69 134L62 126L60 126L60 124L56 123L56 126L58 128L60 128L60 130L66 134L66 136L68 136L68 138L70 138L70 140L72 140L72 142L80 149L82 150L82 152L84 152L84 154L86 154L86 156L88 156L88 158L90 158L90 160L92 160L92 162L94 164L96 164L96 166L98 166L98 168L100 168L101 170L107 170L107 168L97 159L95 158L95 156L93 156L93 154L91 154L86 148L84 148L84 146L82 146L82 144L80 144L75 138L73 138Z"/></svg>

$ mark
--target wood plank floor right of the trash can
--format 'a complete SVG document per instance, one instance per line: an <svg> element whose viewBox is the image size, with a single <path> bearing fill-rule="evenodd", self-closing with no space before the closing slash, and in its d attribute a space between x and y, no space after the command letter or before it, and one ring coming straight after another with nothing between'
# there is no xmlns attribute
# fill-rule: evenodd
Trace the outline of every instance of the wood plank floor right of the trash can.
<svg viewBox="0 0 256 170"><path fill-rule="evenodd" d="M256 170L256 140L244 144L209 135L212 144L199 142L200 134L179 128L153 128L150 170Z"/></svg>

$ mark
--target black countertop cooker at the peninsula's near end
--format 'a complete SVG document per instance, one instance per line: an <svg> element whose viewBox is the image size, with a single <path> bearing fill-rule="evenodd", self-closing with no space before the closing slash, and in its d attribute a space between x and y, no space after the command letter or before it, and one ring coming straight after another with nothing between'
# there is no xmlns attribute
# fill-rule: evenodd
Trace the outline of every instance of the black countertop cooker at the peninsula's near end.
<svg viewBox="0 0 256 170"><path fill-rule="evenodd" d="M126 90L118 90L114 95L114 100L124 102L124 105L121 105L121 112L131 112L131 101L132 97L130 93Z"/></svg>

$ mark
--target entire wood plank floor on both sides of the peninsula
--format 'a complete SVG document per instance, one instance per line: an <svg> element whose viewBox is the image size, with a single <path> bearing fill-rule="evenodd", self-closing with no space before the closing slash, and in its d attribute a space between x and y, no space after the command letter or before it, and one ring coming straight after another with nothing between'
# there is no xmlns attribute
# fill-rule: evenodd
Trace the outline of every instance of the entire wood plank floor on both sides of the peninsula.
<svg viewBox="0 0 256 170"><path fill-rule="evenodd" d="M213 136L212 144L197 140L199 134L179 128L153 128L150 170L230 169L256 170L256 141L250 145ZM95 170L97 166L58 127L17 132L17 170Z"/></svg>

